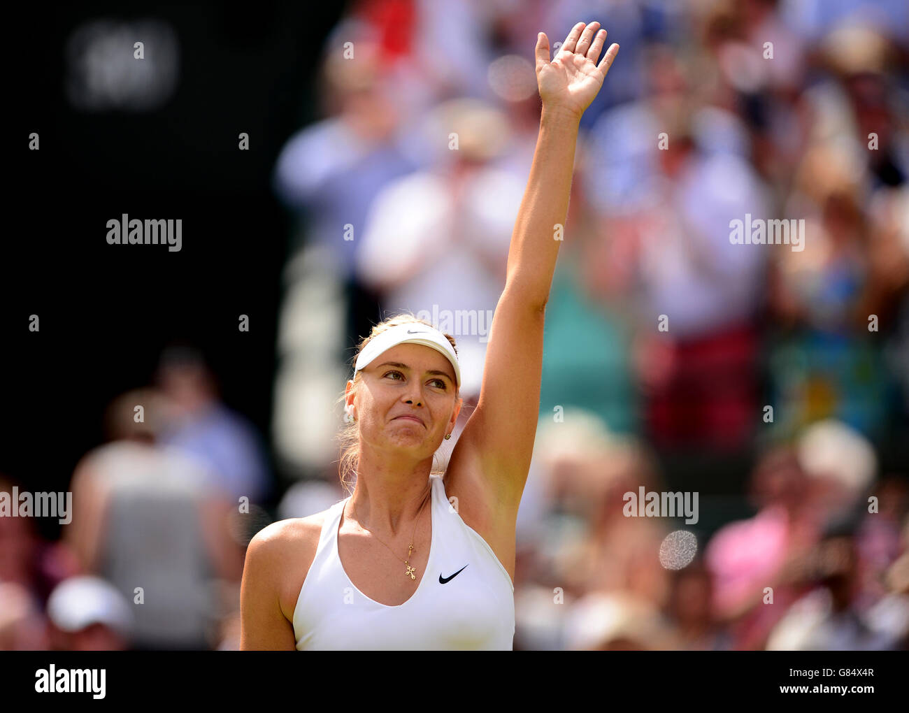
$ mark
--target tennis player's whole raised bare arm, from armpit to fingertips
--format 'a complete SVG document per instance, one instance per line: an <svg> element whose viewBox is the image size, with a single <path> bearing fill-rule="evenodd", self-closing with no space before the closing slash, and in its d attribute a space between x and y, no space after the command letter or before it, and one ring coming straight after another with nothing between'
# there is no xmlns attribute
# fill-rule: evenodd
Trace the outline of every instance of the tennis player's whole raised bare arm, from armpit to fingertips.
<svg viewBox="0 0 909 713"><path fill-rule="evenodd" d="M536 79L543 100L540 133L524 199L514 223L504 291L486 348L480 399L452 453L453 478L482 489L515 512L534 449L543 367L544 308L553 282L584 110L594 101L618 53L603 60L599 23L574 25L549 61L549 39L536 40ZM480 473L482 475L476 475Z"/></svg>

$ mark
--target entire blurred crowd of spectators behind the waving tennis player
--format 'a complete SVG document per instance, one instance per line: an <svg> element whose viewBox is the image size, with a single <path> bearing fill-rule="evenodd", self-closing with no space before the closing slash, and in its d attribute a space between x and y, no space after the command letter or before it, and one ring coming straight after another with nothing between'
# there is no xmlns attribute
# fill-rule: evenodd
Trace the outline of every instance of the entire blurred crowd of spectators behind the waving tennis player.
<svg viewBox="0 0 909 713"><path fill-rule="evenodd" d="M335 400L398 311L472 315L437 324L464 381L445 460L533 158L536 33L594 19L622 49L546 308L514 648L909 649L904 0L351 3L275 164L279 473L200 355L166 353L60 542L0 518L0 649L236 649L245 543L347 494ZM731 243L746 215L804 220L804 249ZM699 490L700 521L626 517L642 487Z"/></svg>

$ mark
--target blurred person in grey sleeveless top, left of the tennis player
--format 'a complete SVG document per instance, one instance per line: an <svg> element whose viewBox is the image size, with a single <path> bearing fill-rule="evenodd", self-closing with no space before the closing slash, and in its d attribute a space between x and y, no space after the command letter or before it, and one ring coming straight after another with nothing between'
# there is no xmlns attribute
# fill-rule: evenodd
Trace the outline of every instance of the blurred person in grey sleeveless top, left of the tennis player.
<svg viewBox="0 0 909 713"><path fill-rule="evenodd" d="M143 421L135 421L137 406ZM209 649L217 625L212 579L238 583L243 550L230 534L232 506L205 464L157 445L165 414L151 389L111 403L111 442L76 466L64 538L86 573L135 605L137 648Z"/></svg>

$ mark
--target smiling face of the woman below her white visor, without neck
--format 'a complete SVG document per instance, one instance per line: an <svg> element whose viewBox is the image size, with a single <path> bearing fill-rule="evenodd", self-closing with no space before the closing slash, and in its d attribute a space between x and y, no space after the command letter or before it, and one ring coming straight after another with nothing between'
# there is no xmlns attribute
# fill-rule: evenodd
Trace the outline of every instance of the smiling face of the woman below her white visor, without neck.
<svg viewBox="0 0 909 713"><path fill-rule="evenodd" d="M454 398L451 362L423 344L398 344L360 372L356 394L347 382L347 404L360 425L360 438L383 449L418 451L430 457L454 430L461 399ZM400 418L403 415L413 418ZM422 422L421 422L422 421Z"/></svg>

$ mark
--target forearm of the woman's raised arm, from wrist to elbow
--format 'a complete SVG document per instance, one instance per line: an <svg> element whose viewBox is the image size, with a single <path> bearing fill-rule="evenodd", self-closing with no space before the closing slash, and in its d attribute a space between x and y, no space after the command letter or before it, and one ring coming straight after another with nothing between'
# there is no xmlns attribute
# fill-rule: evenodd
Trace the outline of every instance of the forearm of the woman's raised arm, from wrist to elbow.
<svg viewBox="0 0 909 713"><path fill-rule="evenodd" d="M543 309L562 244L581 117L543 107L534 162L514 222L505 287Z"/></svg>

